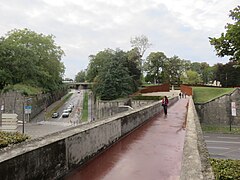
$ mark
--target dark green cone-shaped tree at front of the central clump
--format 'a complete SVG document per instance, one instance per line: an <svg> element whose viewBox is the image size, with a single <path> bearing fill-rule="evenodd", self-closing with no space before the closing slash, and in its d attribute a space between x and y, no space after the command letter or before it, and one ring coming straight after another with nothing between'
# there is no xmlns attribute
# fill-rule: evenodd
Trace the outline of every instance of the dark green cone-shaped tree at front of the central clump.
<svg viewBox="0 0 240 180"><path fill-rule="evenodd" d="M126 53L116 51L100 69L93 86L94 93L102 100L113 100L133 92L132 77L124 66Z"/></svg>

